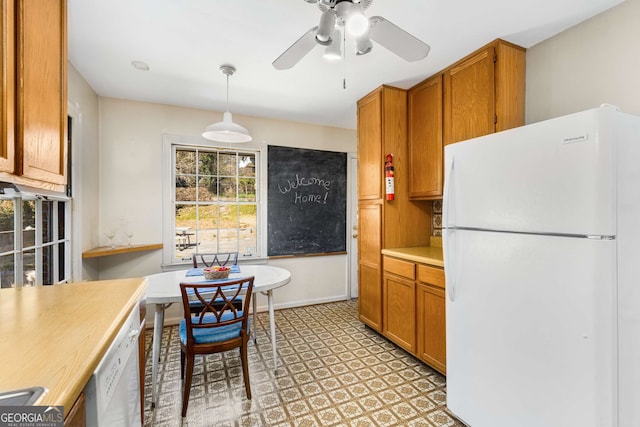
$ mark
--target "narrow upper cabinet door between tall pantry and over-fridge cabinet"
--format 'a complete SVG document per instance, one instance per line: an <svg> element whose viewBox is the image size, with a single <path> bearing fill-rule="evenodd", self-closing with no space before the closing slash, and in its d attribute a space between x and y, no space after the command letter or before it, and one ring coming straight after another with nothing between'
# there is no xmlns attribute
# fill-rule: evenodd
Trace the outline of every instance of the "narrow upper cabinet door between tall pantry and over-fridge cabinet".
<svg viewBox="0 0 640 427"><path fill-rule="evenodd" d="M442 197L442 75L409 90L409 198Z"/></svg>

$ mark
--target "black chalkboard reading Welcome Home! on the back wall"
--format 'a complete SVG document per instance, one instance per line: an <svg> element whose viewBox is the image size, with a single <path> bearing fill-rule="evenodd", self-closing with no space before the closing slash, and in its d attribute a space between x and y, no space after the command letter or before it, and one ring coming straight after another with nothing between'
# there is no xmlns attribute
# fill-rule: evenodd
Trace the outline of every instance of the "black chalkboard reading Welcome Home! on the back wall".
<svg viewBox="0 0 640 427"><path fill-rule="evenodd" d="M269 256L346 251L347 155L268 148Z"/></svg>

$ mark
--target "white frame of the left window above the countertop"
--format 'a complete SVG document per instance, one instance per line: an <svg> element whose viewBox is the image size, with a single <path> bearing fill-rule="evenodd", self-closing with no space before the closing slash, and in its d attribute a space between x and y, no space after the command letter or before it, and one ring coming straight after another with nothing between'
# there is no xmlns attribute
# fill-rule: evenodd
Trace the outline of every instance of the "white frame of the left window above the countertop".
<svg viewBox="0 0 640 427"><path fill-rule="evenodd" d="M43 249L45 247L53 247L53 258L50 260L52 264L52 272L53 277L57 278L55 283L50 284L60 284L60 283L69 283L72 280L72 259L71 259L71 200L67 197L57 197L51 195L41 195L38 194L37 190L34 192L30 191L16 191L11 192L5 189L5 193L0 196L2 199L12 199L14 202L14 245L13 250L8 252L3 252L2 255L9 255L13 253L14 257L14 287L24 286L25 283L25 274L24 264L23 264L23 254L26 251L34 251L35 256L35 280L34 285L39 286L43 284L42 275L43 275ZM25 247L23 242L23 206L22 203L24 201L33 200L35 202L35 241L34 245ZM52 233L53 238L50 242L44 243L42 241L42 203L43 201L53 202L53 209L51 211L52 215ZM58 238L58 203L65 203L65 235L62 239ZM58 268L59 261L59 244L64 243L64 251L65 251L65 276L60 276L60 271ZM48 283L49 284L49 283Z"/></svg>

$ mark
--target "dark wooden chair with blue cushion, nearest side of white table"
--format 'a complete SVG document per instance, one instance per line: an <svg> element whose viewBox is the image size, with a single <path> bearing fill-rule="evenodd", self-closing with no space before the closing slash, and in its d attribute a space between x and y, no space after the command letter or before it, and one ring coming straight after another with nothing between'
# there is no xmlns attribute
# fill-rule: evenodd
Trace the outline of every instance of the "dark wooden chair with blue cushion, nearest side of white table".
<svg viewBox="0 0 640 427"><path fill-rule="evenodd" d="M240 348L242 375L247 398L251 399L249 384L249 302L254 277L219 283L180 283L184 319L180 321L180 375L183 379L182 416L187 416L189 394L196 355L220 353ZM244 295L242 309L233 302ZM192 314L190 302L198 301L202 311ZM222 301L222 305L219 302ZM186 372L185 372L186 363Z"/></svg>

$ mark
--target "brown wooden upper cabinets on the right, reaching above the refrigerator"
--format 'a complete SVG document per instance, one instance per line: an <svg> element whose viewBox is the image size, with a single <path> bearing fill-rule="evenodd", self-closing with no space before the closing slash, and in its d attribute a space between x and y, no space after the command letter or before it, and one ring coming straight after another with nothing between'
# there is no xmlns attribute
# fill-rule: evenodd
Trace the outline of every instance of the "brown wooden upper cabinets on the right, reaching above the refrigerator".
<svg viewBox="0 0 640 427"><path fill-rule="evenodd" d="M525 56L495 40L409 89L411 199L442 198L444 145L524 125Z"/></svg>

